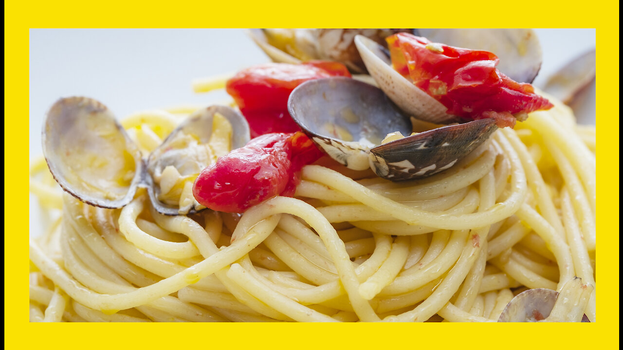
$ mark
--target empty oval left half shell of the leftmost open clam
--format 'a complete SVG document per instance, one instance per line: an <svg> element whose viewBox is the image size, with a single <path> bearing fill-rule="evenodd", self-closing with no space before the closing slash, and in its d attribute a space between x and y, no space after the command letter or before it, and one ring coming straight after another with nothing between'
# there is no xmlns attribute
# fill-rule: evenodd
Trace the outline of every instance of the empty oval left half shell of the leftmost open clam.
<svg viewBox="0 0 623 350"><path fill-rule="evenodd" d="M92 98L55 102L45 118L42 144L60 187L92 206L123 207L143 183L140 150L110 110Z"/></svg>

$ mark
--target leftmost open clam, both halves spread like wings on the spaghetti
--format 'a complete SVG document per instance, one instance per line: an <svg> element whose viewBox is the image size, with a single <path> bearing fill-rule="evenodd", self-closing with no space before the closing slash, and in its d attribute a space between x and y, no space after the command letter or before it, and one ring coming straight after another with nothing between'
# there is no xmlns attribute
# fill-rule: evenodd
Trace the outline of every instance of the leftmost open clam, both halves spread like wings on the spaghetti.
<svg viewBox="0 0 623 350"><path fill-rule="evenodd" d="M206 144L216 115L232 126L231 148L249 141L249 126L242 115L227 106L211 106L189 116L143 159L138 146L105 105L87 97L61 98L45 119L44 156L60 186L92 206L123 207L138 187L146 187L158 212L193 214L202 209L196 202L182 208L161 201L161 186L166 181L163 173L193 176L212 163L214 154L209 154Z"/></svg>

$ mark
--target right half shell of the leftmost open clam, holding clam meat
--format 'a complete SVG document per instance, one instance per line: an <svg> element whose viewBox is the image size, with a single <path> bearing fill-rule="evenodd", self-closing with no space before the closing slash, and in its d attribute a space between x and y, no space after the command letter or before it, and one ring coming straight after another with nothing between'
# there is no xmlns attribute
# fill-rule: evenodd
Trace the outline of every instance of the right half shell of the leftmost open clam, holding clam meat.
<svg viewBox="0 0 623 350"><path fill-rule="evenodd" d="M179 206L159 201L161 187L153 180L161 176L167 166L174 166L181 176L193 176L212 163L212 159L208 156L209 151L205 148L211 140L214 115L217 113L232 125L231 146L228 148L240 148L249 142L250 133L247 121L231 107L209 106L197 110L184 120L158 148L151 152L147 161L147 170L150 175L148 178L151 180L148 193L153 206L161 214L194 214L197 210L203 209L195 203L188 212L180 212ZM192 140L193 146L188 146L184 142L186 140Z"/></svg>

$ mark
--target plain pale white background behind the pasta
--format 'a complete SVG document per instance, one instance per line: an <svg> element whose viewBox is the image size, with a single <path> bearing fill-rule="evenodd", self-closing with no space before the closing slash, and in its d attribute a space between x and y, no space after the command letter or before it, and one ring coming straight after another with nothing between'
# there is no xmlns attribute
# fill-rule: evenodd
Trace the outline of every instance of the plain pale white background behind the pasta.
<svg viewBox="0 0 623 350"><path fill-rule="evenodd" d="M537 29L543 65L535 80L595 47L594 29ZM31 29L29 136L31 161L41 156L47 109L59 97L92 97L118 118L179 105L210 105L227 95L196 94L195 78L267 62L242 29ZM32 195L31 195L32 197ZM36 210L31 198L31 210ZM31 233L38 232L32 212Z"/></svg>

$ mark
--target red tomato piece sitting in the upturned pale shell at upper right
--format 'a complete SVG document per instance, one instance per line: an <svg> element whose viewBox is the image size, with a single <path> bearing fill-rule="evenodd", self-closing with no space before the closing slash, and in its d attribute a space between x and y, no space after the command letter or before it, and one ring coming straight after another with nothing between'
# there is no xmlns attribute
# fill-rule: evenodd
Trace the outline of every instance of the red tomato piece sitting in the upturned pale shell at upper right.
<svg viewBox="0 0 623 350"><path fill-rule="evenodd" d="M514 126L515 117L553 105L528 83L518 83L495 68L487 51L460 49L399 33L387 38L397 72L465 120L493 117L498 126Z"/></svg>

